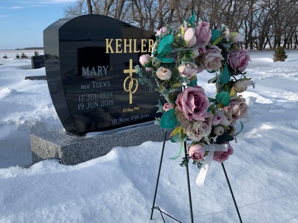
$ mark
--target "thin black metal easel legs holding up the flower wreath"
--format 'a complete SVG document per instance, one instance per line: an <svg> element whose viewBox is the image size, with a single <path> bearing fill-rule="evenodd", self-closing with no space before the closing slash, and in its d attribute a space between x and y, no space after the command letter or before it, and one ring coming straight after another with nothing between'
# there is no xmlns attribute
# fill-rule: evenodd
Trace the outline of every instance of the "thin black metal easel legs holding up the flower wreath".
<svg viewBox="0 0 298 223"><path fill-rule="evenodd" d="M154 193L154 198L153 198L153 204L152 204L152 208L151 208L150 220L152 220L154 209L157 209L157 210L160 211L164 223L166 223L166 222L165 222L165 219L164 219L163 214L165 214L169 218L175 220L176 222L182 223L179 220L177 220L174 217L172 217L169 214L167 214L166 212L162 211L159 206L155 206L155 199L156 199L157 188L158 188L158 183L159 183L159 178L160 178L160 173L161 173L161 168L162 168L162 163L163 163L163 157L164 157L165 144L166 144L166 134L167 134L167 130L165 132L165 138L164 138L164 143L163 143L161 161L160 161L160 166L159 166L159 169L158 169L158 175L157 175L155 193ZM190 214L191 214L191 223L194 223L193 206L192 206L192 195L191 195L191 188L190 188L190 181L189 181L189 171L188 171L188 156L187 156L187 149L186 149L186 141L184 142L184 154L185 154L185 160L186 160L186 176L187 176L187 187L188 187L188 198L189 198L189 208L190 208ZM227 180L228 185L229 185L229 189L230 189L230 192L231 192L233 201L234 201L234 205L235 205L235 208L236 208L236 211L237 211L237 214L238 214L239 221L240 221L240 223L242 223L241 216L240 216L240 213L239 213L237 204L236 204L236 200L235 200L235 197L234 197L233 192L232 192L230 181L229 181L229 178L228 178L228 175L227 175L227 172L226 172L226 169L225 169L225 166L224 166L223 163L222 163L222 167L223 167L223 170L224 170L224 173L225 173L225 176L226 176L226 180Z"/></svg>

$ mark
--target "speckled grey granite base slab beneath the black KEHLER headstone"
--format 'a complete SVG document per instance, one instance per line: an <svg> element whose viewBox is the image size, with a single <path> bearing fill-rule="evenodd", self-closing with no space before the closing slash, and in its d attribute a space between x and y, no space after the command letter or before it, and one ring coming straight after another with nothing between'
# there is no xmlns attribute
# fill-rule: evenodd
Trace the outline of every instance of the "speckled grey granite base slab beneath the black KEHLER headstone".
<svg viewBox="0 0 298 223"><path fill-rule="evenodd" d="M166 139L169 139L168 131ZM33 164L43 159L60 157L66 165L76 165L104 156L116 146L137 146L145 141L163 141L165 130L154 121L110 130L98 136L77 136L64 130L32 134Z"/></svg>

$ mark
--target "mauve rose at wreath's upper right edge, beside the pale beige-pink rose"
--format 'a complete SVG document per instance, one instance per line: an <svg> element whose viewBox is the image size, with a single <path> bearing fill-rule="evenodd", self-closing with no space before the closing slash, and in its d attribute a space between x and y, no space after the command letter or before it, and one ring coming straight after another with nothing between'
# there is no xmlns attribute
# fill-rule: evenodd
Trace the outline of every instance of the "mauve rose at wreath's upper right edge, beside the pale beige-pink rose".
<svg viewBox="0 0 298 223"><path fill-rule="evenodd" d="M247 53L248 50L239 50L228 54L227 62L234 71L244 71L250 60L250 56Z"/></svg>

